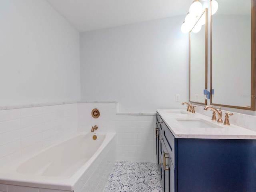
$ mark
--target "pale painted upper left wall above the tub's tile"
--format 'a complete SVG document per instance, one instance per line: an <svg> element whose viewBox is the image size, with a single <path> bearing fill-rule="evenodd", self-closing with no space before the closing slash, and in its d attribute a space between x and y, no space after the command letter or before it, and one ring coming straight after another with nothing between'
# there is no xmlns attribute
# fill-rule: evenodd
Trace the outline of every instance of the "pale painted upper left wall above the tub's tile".
<svg viewBox="0 0 256 192"><path fill-rule="evenodd" d="M80 100L79 32L44 0L0 0L0 106Z"/></svg>

